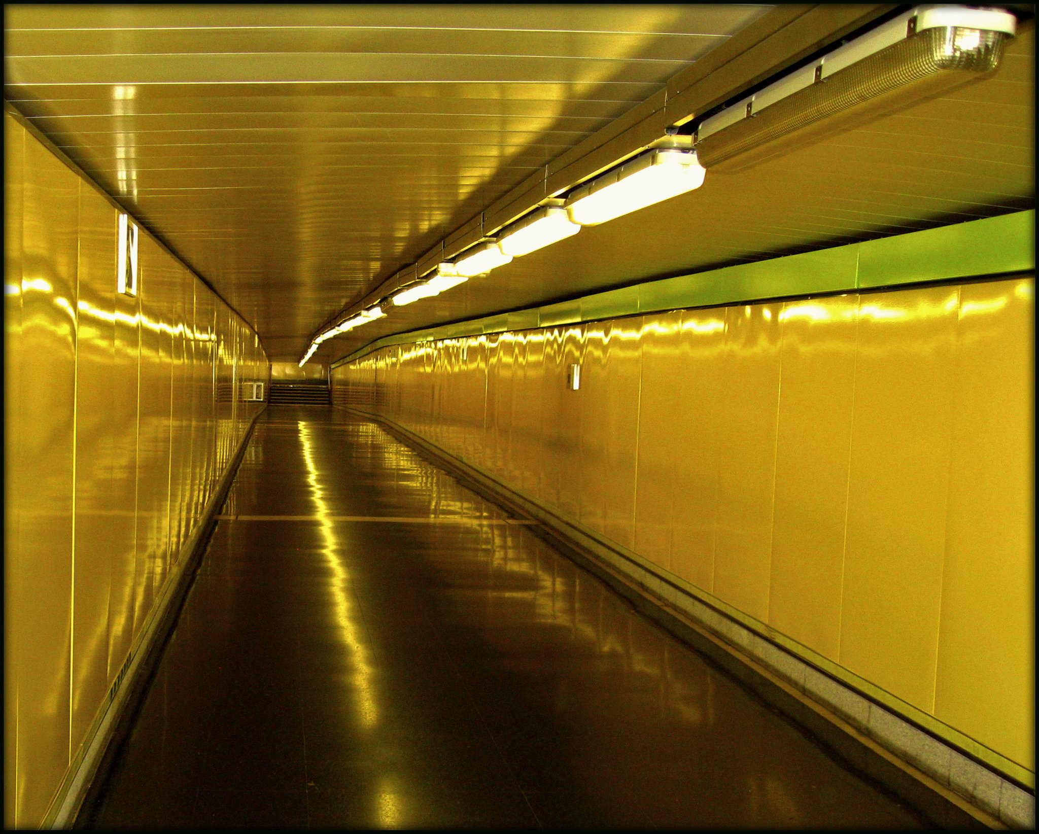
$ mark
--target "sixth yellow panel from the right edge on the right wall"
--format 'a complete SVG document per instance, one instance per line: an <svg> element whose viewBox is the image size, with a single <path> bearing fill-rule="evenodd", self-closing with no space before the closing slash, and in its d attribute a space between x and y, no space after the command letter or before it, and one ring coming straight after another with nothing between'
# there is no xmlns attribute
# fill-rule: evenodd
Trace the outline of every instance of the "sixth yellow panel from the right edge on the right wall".
<svg viewBox="0 0 1039 834"><path fill-rule="evenodd" d="M686 404L677 383L688 369L681 362L682 311L646 316L642 323L642 381L639 394L639 449L632 549L671 570L671 502L675 465L685 451L675 445L675 424Z"/></svg>

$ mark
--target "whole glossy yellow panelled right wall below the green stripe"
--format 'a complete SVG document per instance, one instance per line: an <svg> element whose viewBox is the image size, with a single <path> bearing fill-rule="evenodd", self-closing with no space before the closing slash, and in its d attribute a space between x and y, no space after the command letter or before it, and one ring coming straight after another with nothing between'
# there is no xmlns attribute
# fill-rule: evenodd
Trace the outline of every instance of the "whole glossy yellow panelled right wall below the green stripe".
<svg viewBox="0 0 1039 834"><path fill-rule="evenodd" d="M332 396L1032 770L1033 291L388 347Z"/></svg>

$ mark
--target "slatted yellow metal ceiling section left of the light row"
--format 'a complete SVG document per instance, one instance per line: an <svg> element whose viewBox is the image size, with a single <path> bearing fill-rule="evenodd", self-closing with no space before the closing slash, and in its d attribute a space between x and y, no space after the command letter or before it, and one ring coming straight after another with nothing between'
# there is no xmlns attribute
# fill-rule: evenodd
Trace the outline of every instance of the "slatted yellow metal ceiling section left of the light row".
<svg viewBox="0 0 1039 834"><path fill-rule="evenodd" d="M769 8L7 5L5 97L248 319L272 359L296 359L330 315ZM607 261L596 276L592 252L567 252L550 263L582 262L572 287L541 259L517 265L507 292L495 273L409 316L639 272Z"/></svg>

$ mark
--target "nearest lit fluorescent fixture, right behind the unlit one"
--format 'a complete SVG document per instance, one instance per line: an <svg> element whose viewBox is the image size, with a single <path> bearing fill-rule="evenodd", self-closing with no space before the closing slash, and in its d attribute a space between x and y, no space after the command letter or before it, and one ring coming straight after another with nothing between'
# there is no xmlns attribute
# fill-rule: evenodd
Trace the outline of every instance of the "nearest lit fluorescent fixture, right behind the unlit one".
<svg viewBox="0 0 1039 834"><path fill-rule="evenodd" d="M699 188L703 174L694 152L650 151L579 188L566 200L566 211L581 225L605 223Z"/></svg>

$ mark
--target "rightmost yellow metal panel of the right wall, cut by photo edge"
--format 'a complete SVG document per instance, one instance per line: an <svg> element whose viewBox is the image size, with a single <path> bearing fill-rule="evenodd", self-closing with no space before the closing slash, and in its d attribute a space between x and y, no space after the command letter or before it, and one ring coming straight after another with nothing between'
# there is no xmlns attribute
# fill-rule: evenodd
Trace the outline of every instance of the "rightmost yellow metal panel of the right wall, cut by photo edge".
<svg viewBox="0 0 1039 834"><path fill-rule="evenodd" d="M1032 277L960 291L934 702L937 718L1030 770L1034 293Z"/></svg>

